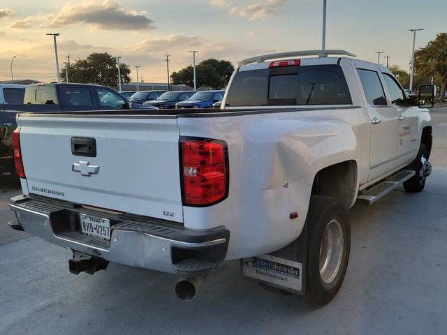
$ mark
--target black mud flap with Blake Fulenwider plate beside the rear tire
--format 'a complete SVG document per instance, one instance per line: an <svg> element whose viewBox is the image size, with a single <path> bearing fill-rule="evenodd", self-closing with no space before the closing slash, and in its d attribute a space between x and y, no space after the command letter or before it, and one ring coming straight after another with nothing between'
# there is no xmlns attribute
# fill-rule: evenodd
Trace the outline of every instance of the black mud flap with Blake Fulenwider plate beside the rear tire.
<svg viewBox="0 0 447 335"><path fill-rule="evenodd" d="M295 295L305 295L306 230L305 225L298 239L278 251L242 259L244 276Z"/></svg>

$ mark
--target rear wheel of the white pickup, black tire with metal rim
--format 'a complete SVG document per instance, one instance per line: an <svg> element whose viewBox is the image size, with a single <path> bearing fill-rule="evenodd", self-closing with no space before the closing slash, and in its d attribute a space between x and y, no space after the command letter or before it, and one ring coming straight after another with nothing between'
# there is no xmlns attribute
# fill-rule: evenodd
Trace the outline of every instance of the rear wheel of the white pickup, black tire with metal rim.
<svg viewBox="0 0 447 335"><path fill-rule="evenodd" d="M306 297L314 304L325 305L337 295L348 267L349 216L339 200L314 195L306 225Z"/></svg>

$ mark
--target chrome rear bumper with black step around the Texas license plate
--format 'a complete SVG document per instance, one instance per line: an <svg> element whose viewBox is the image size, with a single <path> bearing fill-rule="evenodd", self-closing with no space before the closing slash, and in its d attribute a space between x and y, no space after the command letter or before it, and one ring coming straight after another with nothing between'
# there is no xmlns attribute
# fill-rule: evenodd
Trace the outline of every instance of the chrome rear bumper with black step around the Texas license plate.
<svg viewBox="0 0 447 335"><path fill-rule="evenodd" d="M52 244L132 267L196 276L212 271L226 256L230 232L196 232L179 223L80 208L51 199L11 198L22 228ZM79 214L110 219L110 241L80 232Z"/></svg>

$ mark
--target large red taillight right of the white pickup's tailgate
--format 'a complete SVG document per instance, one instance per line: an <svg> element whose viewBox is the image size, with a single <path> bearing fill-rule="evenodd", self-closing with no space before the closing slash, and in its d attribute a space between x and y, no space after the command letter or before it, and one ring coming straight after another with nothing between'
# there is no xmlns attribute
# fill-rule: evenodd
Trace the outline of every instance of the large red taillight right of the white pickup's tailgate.
<svg viewBox="0 0 447 335"><path fill-rule="evenodd" d="M194 137L180 139L183 204L210 206L228 195L226 142Z"/></svg>

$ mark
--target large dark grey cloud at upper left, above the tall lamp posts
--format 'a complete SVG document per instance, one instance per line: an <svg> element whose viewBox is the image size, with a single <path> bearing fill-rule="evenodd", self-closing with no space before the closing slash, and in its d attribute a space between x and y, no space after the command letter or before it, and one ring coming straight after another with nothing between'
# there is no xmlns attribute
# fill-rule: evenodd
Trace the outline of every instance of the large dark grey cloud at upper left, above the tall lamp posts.
<svg viewBox="0 0 447 335"><path fill-rule="evenodd" d="M96 29L154 29L153 21L146 16L146 12L127 10L116 0L105 0L101 4L83 2L65 6L48 27L57 28L82 22Z"/></svg>

